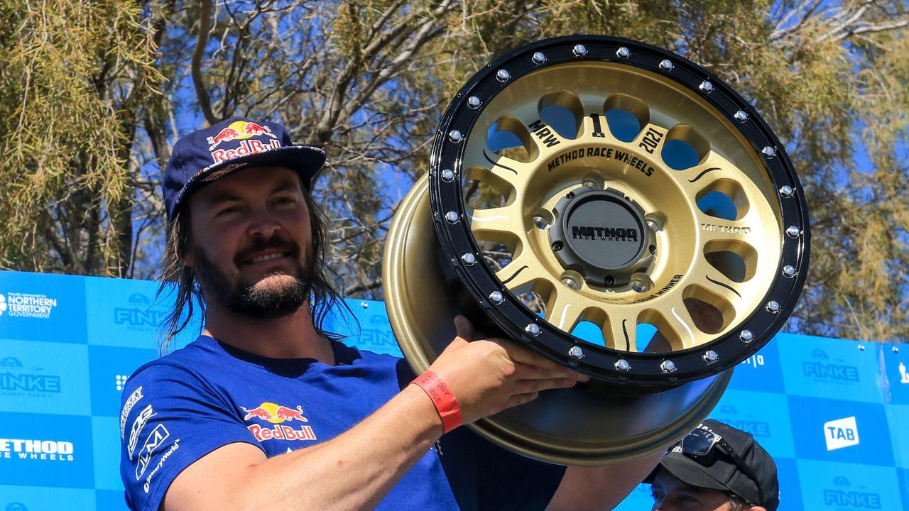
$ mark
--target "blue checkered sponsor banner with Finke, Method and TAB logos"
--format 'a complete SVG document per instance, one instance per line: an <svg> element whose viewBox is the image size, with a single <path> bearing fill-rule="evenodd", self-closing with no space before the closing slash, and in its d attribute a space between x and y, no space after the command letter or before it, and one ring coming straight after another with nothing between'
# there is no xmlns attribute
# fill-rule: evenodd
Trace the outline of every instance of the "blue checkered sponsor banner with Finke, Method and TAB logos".
<svg viewBox="0 0 909 511"><path fill-rule="evenodd" d="M125 509L120 395L171 303L154 282L0 272L0 511ZM401 356L384 303L347 305L329 330ZM909 509L909 347L779 334L711 417L774 456L782 511ZM641 485L618 509L652 504Z"/></svg>

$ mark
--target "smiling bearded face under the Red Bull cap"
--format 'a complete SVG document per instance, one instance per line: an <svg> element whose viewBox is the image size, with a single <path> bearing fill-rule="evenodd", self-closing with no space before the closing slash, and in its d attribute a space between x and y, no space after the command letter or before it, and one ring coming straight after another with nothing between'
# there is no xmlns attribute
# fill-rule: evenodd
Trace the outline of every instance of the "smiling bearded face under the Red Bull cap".
<svg viewBox="0 0 909 511"><path fill-rule="evenodd" d="M189 200L185 255L205 300L235 314L293 314L309 297L312 227L297 175L255 167L205 185Z"/></svg>

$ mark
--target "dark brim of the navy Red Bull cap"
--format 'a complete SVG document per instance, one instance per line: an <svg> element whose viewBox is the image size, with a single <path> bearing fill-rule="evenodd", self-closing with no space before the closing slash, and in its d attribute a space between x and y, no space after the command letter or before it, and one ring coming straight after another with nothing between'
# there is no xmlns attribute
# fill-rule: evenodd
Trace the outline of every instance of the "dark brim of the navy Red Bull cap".
<svg viewBox="0 0 909 511"><path fill-rule="evenodd" d="M300 175L306 188L311 188L315 176L325 165L325 151L312 145L287 145L278 149L271 149L254 155L244 155L231 158L214 165L208 165L200 170L184 185L183 190L176 199L180 205L186 195L189 195L201 186L220 179L238 170L252 166L283 166Z"/></svg>

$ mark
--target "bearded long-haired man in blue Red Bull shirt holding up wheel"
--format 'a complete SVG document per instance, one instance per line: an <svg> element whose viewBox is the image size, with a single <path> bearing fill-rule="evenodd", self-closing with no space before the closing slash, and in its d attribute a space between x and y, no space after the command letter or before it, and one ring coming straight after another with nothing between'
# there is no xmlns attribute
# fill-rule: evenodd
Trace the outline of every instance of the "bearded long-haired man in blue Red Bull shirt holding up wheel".
<svg viewBox="0 0 909 511"><path fill-rule="evenodd" d="M164 176L170 335L193 297L205 331L124 391L121 476L134 509L597 509L658 456L547 465L466 428L578 375L503 339L457 336L424 375L322 329L325 154L234 118L180 139ZM432 296L426 296L432 299ZM188 312L185 312L188 309ZM413 380L413 382L412 382ZM408 385L412 382L414 385ZM548 506L548 507L547 507Z"/></svg>

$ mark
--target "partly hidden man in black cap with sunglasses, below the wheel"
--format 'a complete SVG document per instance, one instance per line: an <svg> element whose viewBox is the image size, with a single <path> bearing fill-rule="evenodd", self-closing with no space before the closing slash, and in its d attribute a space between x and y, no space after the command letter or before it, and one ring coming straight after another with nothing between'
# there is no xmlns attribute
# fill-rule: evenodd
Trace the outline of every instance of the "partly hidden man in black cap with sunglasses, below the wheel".
<svg viewBox="0 0 909 511"><path fill-rule="evenodd" d="M776 511L774 458L754 437L714 420L694 428L644 482L653 511Z"/></svg>

